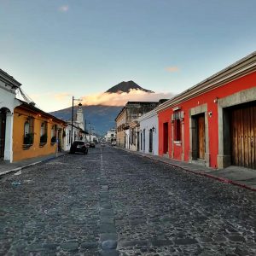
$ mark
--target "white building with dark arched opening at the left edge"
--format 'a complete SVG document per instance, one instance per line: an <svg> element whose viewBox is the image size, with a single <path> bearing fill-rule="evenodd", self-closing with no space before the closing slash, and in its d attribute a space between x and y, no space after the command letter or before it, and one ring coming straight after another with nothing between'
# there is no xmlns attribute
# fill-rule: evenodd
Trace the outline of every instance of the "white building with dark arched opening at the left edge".
<svg viewBox="0 0 256 256"><path fill-rule="evenodd" d="M0 69L0 161L13 161L14 109L20 105L15 98L20 83Z"/></svg>

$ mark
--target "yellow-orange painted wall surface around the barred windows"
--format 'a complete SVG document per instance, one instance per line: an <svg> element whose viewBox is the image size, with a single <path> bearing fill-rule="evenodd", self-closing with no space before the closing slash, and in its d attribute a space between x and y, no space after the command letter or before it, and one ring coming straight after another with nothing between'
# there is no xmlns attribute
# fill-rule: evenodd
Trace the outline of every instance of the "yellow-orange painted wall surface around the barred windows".
<svg viewBox="0 0 256 256"><path fill-rule="evenodd" d="M28 116L34 118L34 140L30 148L23 148L24 142L24 124ZM47 121L47 143L44 147L40 148L40 129L42 122ZM52 125L59 125L59 127L64 127L60 123L44 118L39 114L30 113L22 108L15 108L14 113L14 133L13 133L13 157L14 161L25 160L32 157L43 156L47 154L54 154L56 152L56 143L52 145L50 143L51 139L51 127ZM62 135L61 135L62 138Z"/></svg>

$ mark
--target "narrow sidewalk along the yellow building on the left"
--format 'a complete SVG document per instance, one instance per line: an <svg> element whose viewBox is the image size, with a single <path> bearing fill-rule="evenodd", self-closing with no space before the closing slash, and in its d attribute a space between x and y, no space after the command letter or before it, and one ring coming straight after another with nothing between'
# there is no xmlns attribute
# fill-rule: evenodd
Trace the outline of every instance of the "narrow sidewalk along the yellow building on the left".
<svg viewBox="0 0 256 256"><path fill-rule="evenodd" d="M57 157L67 154L67 152L59 152ZM34 166L47 160L53 160L56 158L56 154L48 154L45 156L34 157L26 160L20 160L13 163L9 161L0 161L0 177L8 174L9 172L18 172L28 166Z"/></svg>

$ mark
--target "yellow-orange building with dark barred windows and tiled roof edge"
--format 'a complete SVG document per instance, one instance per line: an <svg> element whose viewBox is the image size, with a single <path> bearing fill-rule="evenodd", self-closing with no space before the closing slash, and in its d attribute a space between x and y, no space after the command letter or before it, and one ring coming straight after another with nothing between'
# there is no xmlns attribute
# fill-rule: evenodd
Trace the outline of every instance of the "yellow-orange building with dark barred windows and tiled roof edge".
<svg viewBox="0 0 256 256"><path fill-rule="evenodd" d="M13 160L54 154L63 148L65 123L32 103L20 101L14 110Z"/></svg>

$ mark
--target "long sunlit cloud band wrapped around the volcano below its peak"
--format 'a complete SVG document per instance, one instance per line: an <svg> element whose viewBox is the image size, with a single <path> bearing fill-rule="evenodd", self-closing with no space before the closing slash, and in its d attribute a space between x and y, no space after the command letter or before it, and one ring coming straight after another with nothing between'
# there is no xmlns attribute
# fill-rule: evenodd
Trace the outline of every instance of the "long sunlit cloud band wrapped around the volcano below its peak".
<svg viewBox="0 0 256 256"><path fill-rule="evenodd" d="M170 99L172 93L148 93L142 90L130 90L129 93L97 93L82 96L83 105L125 106L126 102L158 102L160 99Z"/></svg>

